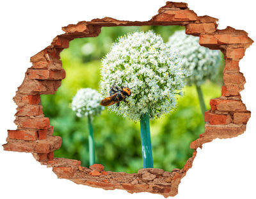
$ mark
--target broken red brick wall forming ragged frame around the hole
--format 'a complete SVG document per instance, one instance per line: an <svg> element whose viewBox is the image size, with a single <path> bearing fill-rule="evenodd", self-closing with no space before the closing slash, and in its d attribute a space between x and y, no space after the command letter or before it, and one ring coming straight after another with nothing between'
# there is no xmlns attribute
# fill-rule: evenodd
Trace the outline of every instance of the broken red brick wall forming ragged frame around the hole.
<svg viewBox="0 0 256 199"><path fill-rule="evenodd" d="M77 184L104 189L125 189L129 193L147 191L163 196L177 195L180 180L191 168L196 157L196 149L216 138L233 138L243 134L250 118L250 111L246 109L239 94L245 83L243 74L239 72L239 60L253 41L245 31L231 27L218 29L217 21L213 17L197 16L193 10L189 10L186 3L167 2L157 15L146 22L120 21L105 17L64 27L65 34L56 36L48 47L31 57L32 66L28 68L24 81L13 97L17 104L14 121L17 129L8 130L4 150L32 153L41 164L52 167L59 178L70 179ZM44 116L40 95L54 94L61 85L61 79L65 78L60 52L68 48L70 40L74 38L98 36L103 26L150 25L185 26L188 35L200 36L200 45L209 49L220 49L224 54L224 86L221 88L221 96L211 99L211 109L205 112L205 132L190 145L194 150L193 156L181 170L168 172L142 169L132 174L104 171L102 165L84 168L80 161L54 158L54 150L61 147L61 138L52 136L54 127L49 124L49 118Z"/></svg>

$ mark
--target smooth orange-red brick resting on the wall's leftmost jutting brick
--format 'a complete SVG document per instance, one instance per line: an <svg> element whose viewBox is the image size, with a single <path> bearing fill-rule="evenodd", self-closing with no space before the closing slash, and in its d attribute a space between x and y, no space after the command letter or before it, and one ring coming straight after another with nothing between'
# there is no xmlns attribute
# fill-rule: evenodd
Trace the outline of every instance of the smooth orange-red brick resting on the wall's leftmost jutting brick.
<svg viewBox="0 0 256 199"><path fill-rule="evenodd" d="M37 131L8 130L8 138L35 141L38 138Z"/></svg>

